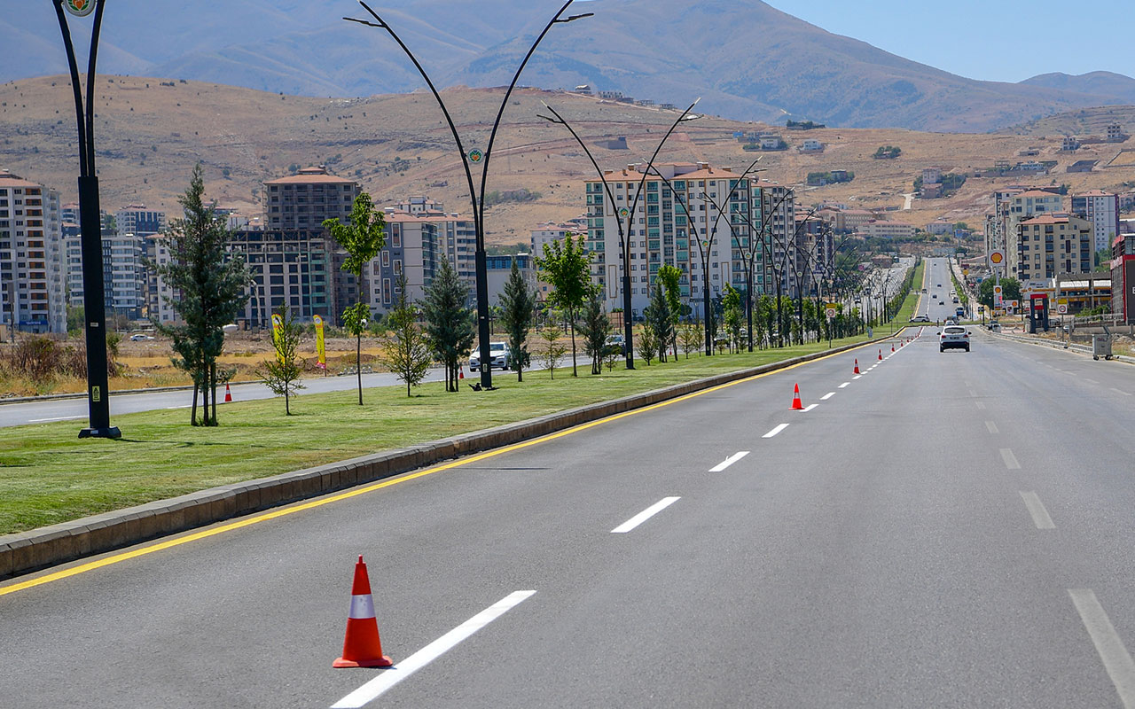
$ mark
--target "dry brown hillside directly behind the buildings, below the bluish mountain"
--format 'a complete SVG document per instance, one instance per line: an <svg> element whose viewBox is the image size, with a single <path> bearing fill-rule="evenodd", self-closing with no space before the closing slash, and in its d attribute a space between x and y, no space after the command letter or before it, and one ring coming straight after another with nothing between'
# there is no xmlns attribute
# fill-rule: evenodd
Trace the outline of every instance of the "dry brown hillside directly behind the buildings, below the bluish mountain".
<svg viewBox="0 0 1135 709"><path fill-rule="evenodd" d="M289 96L218 84L161 78L100 76L95 123L102 205L114 210L144 202L178 213L177 196L190 170L202 161L209 196L221 205L259 214L260 185L288 174L292 166L326 163L338 175L359 179L380 204L428 194L451 211L469 213L461 163L432 96L427 93L367 99ZM499 88L455 88L446 101L466 147L484 147L499 104ZM76 199L75 120L66 77L44 77L0 85L0 168L59 189ZM619 168L645 160L676 113L602 101L594 98L518 91L505 112L491 163L488 191L527 188L540 199L487 210L489 243L527 242L533 226L580 216L582 180L594 175L587 158L560 126L537 117L541 101L556 107L594 144L625 136L629 150L595 147L600 164ZM1135 110L1135 109L1130 109ZM733 133L768 126L707 116L682 126L663 150L661 161L706 160L742 169L756 153ZM924 225L936 217L980 223L989 194L1008 184L1061 184L1073 189L1118 188L1135 179L1128 168L1065 174L1075 160L1099 155L1110 160L1125 145L1086 146L1066 155L1060 135L1046 137L987 134L934 134L898 129L823 128L781 134L790 149L763 153L763 177L801 185L802 203L832 201L849 206L900 210L902 195L925 167L973 172L998 159L1059 163L1044 178L972 177L947 200L915 200L914 210L892 219ZM822 153L796 150L804 137L825 144ZM1133 142L1126 145L1130 146ZM896 160L875 160L881 145L897 145ZM844 169L855 180L825 187L802 187L812 171Z"/></svg>

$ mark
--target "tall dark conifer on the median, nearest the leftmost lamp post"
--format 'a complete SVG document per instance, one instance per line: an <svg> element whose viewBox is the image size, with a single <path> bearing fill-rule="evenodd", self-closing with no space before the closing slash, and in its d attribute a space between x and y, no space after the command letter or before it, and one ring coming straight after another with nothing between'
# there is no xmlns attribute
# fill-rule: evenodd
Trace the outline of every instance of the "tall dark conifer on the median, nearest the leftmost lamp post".
<svg viewBox="0 0 1135 709"><path fill-rule="evenodd" d="M190 421L197 425L197 391L203 391L201 425L217 425L217 357L225 346L225 331L249 301L252 282L244 260L227 250L229 230L212 206L204 203L201 164L193 168L190 186L178 197L184 210L165 236L158 238L169 253L166 263L148 261L149 268L173 292L162 296L177 313L174 324L154 322L173 340L175 366L193 380ZM212 410L209 402L212 397Z"/></svg>

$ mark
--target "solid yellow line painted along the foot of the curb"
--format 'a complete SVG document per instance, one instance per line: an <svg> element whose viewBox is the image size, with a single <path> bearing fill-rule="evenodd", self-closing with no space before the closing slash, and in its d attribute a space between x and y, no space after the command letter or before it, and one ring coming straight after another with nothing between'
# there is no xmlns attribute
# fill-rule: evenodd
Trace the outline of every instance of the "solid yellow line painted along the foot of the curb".
<svg viewBox="0 0 1135 709"><path fill-rule="evenodd" d="M611 415L611 416L606 416L605 419L597 419L595 421L589 421L587 423L581 423L581 424L574 425L574 427L572 427L570 429L564 429L562 431L556 431L555 433L548 433L547 436L541 436L539 438L533 438L531 440L526 440L526 441L521 441L519 444L513 444L511 446L505 446L504 448L494 448L493 450L488 450L486 453L480 453L480 454L476 454L476 455L472 455L472 456L469 456L469 457L459 458L456 461L451 461L448 463L443 463L442 465L435 465L432 467L428 467L426 470L421 470L421 471L418 471L418 472L414 472L414 473L404 473L404 474L401 474L401 475L398 475L396 478L392 478L389 480L382 480L380 482L375 482L375 483L371 483L371 484L367 484L367 486L363 486L361 488L355 488L353 490L348 490L346 492L333 493L333 495L329 495L329 496L326 496L326 497L320 497L318 499L313 499L313 500L308 501L308 503L300 503L297 505L289 505L287 507L280 507L279 509L274 509L271 512L266 512L266 513L259 514L259 515L257 515L254 517L246 517L244 520L238 520L236 522L229 522L228 524L221 524L220 526L216 526L216 527L212 527L212 529L202 530L200 532L193 532L193 533L190 533L190 534L177 537L176 539L167 539L166 541L160 541L160 542L150 545L148 547L142 547L142 548L138 548L138 549L132 549L129 551L123 551L120 554L115 554L112 556L108 556L108 557L104 557L104 558L101 558L101 559L95 559L93 562L87 562L85 564L79 564L78 566L73 566L72 568L64 568L64 569L60 569L60 571L57 571L57 572L44 574L43 576L37 576L35 579L28 579L27 581L20 581L18 583L14 583L11 585L2 586L2 588L0 588L0 596L7 596L9 593L15 593L16 591L23 591L25 589L32 589L32 588L35 588L37 585L43 585L44 583L51 583L52 581L59 581L61 579L67 579L67 577L70 577L70 576L75 576L75 575L78 575L78 574L82 574L82 573L85 573L85 572L89 572L89 571L94 571L96 568L102 568L103 566L110 566L112 564L118 564L118 563L121 563L121 562L126 562L128 559L133 559L133 558L136 558L136 557L140 557L140 556L145 556L148 554L153 554L154 551L161 551L162 549L170 549L173 547L179 547L182 545L190 543L191 541L197 541L199 539L208 539L209 537L215 537L215 535L221 534L224 532L230 532L233 530L238 530L238 529L242 529L242 527L245 527L245 526L251 526L251 525L258 524L260 522L267 522L269 520L276 520L277 517L283 517L283 516L286 516L286 515L291 515L291 514L294 514L294 513L297 513L297 512L301 512L301 510L304 510L304 509L313 509L316 507L322 507L323 505L329 505L331 503L337 503L339 500L345 500L345 499L350 499L352 497L358 497L360 495L365 495L367 492L373 492L375 490L381 490L382 488L389 488L390 486L396 486L398 483L406 482L409 480L415 480L418 478L424 478L426 475L432 475L434 473L440 473L442 471L447 471L447 470L451 470L451 469L454 469L454 467L460 467L462 465L468 465L470 463L477 463L478 461L485 461L487 458L491 458L491 457L495 457L495 456L498 456L498 455L503 455L505 453L512 453L513 450L520 450L522 448L528 448L529 446L537 446L539 444L544 444L544 442L547 442L549 440L555 440L557 438L563 438L565 436L571 436L572 433L579 433L580 431L586 431L586 430L595 428L597 425L602 425L602 424L605 424L605 423L611 423L611 422L614 422L614 421L619 421L620 419L625 419L627 416L633 416L633 415L637 415L637 414L646 413L648 411L654 411L656 408L662 408L663 406L670 406L671 404L678 404L679 402L684 402L684 400L688 400L688 399L692 399L695 397L703 396L703 395L709 394L712 391L720 391L721 389L725 389L728 387L733 387L733 386L746 383L746 382L749 382L749 381L755 381L757 379L762 379L762 378L768 377L771 374L780 374L781 372L787 372L789 370L793 370L793 369L796 369L798 366L802 366L805 364L812 364L813 362L823 362L824 360L827 360L830 357L835 357L835 356L839 356L841 354L846 354L848 352L854 352L854 351L859 349L861 347L867 347L867 346L869 346L872 344L873 343L864 343L863 345L858 345L856 347L851 347L850 349L846 349L843 352L835 352L835 353L832 353L832 354L829 354L829 355L824 355L822 357L816 357L815 360L809 360L808 362L797 362L796 364L791 364L791 365L782 368L782 369L773 370L771 372L764 372L762 374L754 374L751 377L746 377L745 379L738 379L737 381L729 381L729 382L725 382L723 385L717 385L715 387L711 387L708 389L700 389L698 391L691 391L690 394L683 394L682 396L674 397L672 399L666 399L665 402L658 402L657 404L650 404L649 406L642 406L641 408L634 408L634 410L631 410L631 411L624 411L621 414L614 414L614 415Z"/></svg>

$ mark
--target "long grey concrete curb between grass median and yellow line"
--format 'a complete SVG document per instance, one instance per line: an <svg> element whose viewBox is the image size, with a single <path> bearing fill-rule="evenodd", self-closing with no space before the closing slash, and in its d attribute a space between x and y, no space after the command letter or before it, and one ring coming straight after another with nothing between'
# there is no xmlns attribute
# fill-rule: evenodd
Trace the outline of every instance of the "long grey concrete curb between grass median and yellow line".
<svg viewBox="0 0 1135 709"><path fill-rule="evenodd" d="M899 332L901 331L900 329ZM865 343L843 345L782 362L715 374L664 389L571 408L494 429L280 473L270 478L210 488L171 499L137 505L18 534L8 534L0 537L0 579L8 579L158 537L184 532L222 520L390 478L442 461L539 438L581 423L650 406L755 374L773 372L794 364L875 345L893 339L899 332L894 336L878 337Z"/></svg>

